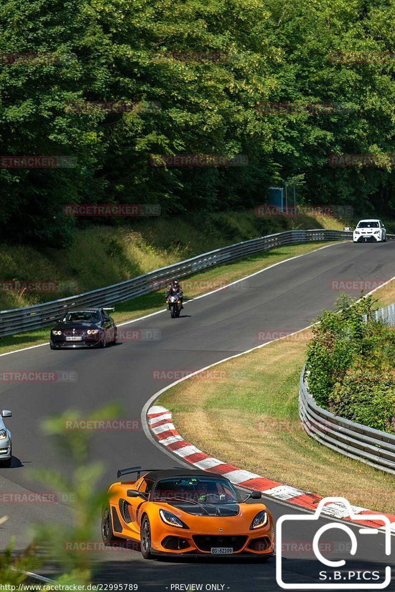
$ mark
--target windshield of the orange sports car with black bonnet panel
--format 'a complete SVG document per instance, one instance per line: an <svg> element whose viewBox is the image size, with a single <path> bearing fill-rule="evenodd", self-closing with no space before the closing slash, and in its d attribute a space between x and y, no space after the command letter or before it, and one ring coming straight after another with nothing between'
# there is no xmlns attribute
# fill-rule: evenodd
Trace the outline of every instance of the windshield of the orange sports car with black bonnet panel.
<svg viewBox="0 0 395 592"><path fill-rule="evenodd" d="M198 501L199 503L241 503L232 484L223 479L174 477L158 481L152 500Z"/></svg>

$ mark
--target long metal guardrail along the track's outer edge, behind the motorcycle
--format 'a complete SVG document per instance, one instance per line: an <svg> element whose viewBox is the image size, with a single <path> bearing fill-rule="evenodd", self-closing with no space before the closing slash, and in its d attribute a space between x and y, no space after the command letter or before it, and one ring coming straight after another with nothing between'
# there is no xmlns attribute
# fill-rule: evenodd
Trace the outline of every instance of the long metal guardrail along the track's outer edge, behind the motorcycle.
<svg viewBox="0 0 395 592"><path fill-rule="evenodd" d="M269 234L259 239L246 240L241 243L230 244L203 255L198 255L174 263L167 267L156 269L137 278L128 279L120 284L92 290L76 296L61 298L43 304L34 304L23 308L12 308L0 311L0 336L12 335L31 329L45 327L63 316L66 310L81 306L105 306L122 302L156 291L165 286L171 278L184 278L203 269L223 265L230 261L253 255L264 250L273 249L287 244L297 244L314 241L332 241L351 239L352 232L341 230L286 230L277 234ZM388 237L389 238L389 237ZM395 239L395 235L394 235Z"/></svg>

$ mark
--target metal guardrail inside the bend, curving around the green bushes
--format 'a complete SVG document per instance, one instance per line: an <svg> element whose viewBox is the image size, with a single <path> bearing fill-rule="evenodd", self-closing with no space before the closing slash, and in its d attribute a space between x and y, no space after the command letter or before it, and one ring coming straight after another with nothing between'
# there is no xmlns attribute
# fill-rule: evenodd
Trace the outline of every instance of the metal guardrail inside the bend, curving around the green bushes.
<svg viewBox="0 0 395 592"><path fill-rule="evenodd" d="M372 318L395 326L395 304L374 311ZM367 321L367 315L364 320ZM395 436L319 407L304 381L305 371L304 366L299 387L299 417L309 436L349 458L395 475Z"/></svg>

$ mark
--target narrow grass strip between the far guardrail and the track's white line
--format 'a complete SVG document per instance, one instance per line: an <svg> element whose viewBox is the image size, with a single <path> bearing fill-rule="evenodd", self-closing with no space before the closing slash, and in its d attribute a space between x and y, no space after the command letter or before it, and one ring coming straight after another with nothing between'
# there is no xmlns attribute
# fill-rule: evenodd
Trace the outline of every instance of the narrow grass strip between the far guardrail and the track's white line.
<svg viewBox="0 0 395 592"><path fill-rule="evenodd" d="M310 253L322 246L335 243L314 242L278 247L277 249L263 251L257 255L240 259L234 263L209 269L201 274L195 274L190 278L181 281L184 288L185 301L188 301L188 299L194 298L195 296L205 294L205 292L210 292L213 289L220 288L221 286L243 278L246 275L265 269L269 265L274 265L274 263L279 263L285 259L297 255L303 255L304 253ZM158 292L150 292L149 294L132 298L123 303L115 304L114 307L115 312L113 313L113 318L117 324L142 317L146 314L155 313L156 311L165 308L163 289L160 289ZM46 343L48 339L49 327L1 337L0 354L17 349L28 348L33 345L40 345L40 343Z"/></svg>

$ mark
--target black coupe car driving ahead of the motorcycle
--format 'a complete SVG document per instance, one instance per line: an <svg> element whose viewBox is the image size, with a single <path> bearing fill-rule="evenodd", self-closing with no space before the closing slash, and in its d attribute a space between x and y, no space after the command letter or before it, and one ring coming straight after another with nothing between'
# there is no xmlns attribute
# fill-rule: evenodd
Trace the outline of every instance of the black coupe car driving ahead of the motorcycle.
<svg viewBox="0 0 395 592"><path fill-rule="evenodd" d="M50 348L105 348L117 342L117 326L108 311L114 308L70 310L51 330Z"/></svg>

